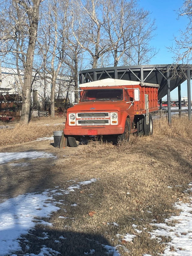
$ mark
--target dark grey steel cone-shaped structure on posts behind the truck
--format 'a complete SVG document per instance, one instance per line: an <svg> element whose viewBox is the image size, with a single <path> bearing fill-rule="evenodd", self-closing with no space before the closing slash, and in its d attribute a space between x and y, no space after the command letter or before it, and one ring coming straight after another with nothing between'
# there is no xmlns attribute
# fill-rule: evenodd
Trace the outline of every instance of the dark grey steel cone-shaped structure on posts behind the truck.
<svg viewBox="0 0 192 256"><path fill-rule="evenodd" d="M178 87L179 109L181 109L181 84L185 80L187 80L188 118L191 119L191 76L191 65L138 65L82 70L79 71L79 83L115 78L159 84L158 100L160 101L160 106L162 106L162 98L167 95L168 122L171 123L170 92Z"/></svg>

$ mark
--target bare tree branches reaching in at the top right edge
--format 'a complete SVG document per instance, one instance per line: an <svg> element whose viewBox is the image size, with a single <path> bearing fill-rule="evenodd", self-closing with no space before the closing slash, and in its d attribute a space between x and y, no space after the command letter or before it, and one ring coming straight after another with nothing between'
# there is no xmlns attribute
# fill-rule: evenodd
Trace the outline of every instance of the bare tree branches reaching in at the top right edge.
<svg viewBox="0 0 192 256"><path fill-rule="evenodd" d="M178 18L187 17L188 24L186 30L180 30L180 35L175 38L176 46L169 49L174 53L176 63L188 64L192 60L192 1L183 1L182 7L178 11Z"/></svg>

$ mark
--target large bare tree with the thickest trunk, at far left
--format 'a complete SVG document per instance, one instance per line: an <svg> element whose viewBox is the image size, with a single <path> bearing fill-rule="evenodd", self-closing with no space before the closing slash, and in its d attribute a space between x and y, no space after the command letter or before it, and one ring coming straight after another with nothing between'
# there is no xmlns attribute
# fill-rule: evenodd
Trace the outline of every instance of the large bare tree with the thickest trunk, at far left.
<svg viewBox="0 0 192 256"><path fill-rule="evenodd" d="M37 39L39 7L43 0L5 1L4 23L1 23L1 41L7 41L7 52L14 55L19 82L22 87L21 122L29 121L32 88L32 69ZM8 23L7 23L8 21ZM24 72L22 80L20 67Z"/></svg>

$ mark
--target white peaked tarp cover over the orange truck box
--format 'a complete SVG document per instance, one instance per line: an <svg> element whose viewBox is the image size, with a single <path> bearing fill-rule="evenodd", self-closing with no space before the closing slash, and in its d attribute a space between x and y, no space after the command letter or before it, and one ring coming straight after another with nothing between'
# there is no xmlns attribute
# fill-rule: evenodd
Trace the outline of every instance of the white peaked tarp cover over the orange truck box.
<svg viewBox="0 0 192 256"><path fill-rule="evenodd" d="M141 83L137 81L130 81L130 80L121 80L121 79L113 79L113 78L106 78L94 82L89 83L82 83L79 84L79 87L105 87L105 86L126 86L126 85L141 85L147 87L160 87L158 84L153 83Z"/></svg>

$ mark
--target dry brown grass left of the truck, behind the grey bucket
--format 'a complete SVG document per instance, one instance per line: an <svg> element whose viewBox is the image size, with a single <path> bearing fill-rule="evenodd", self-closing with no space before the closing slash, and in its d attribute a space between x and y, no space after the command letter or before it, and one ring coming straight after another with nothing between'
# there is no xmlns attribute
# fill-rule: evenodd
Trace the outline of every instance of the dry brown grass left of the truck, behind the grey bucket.
<svg viewBox="0 0 192 256"><path fill-rule="evenodd" d="M1 146L12 145L51 136L53 131L63 130L63 122L65 119L46 117L34 118L28 125L20 125L19 122L8 123L6 125L10 126L10 129L0 129L0 144ZM5 125L5 123L1 122L1 125Z"/></svg>

